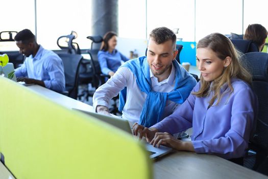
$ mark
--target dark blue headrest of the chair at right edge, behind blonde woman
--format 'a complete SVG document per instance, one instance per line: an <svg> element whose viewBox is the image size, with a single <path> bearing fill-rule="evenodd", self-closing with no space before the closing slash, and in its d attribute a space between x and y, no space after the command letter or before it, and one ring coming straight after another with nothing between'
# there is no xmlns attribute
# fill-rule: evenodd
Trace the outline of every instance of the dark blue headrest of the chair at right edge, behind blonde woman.
<svg viewBox="0 0 268 179"><path fill-rule="evenodd" d="M242 64L252 74L254 81L268 82L268 54L250 52L242 55Z"/></svg>

